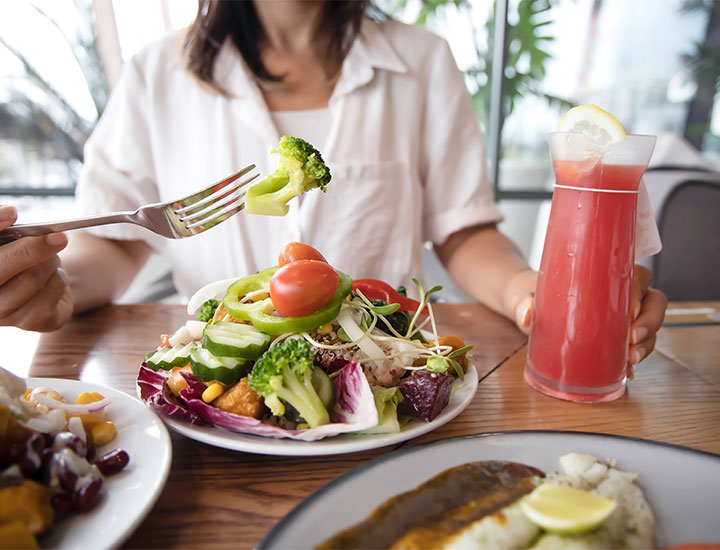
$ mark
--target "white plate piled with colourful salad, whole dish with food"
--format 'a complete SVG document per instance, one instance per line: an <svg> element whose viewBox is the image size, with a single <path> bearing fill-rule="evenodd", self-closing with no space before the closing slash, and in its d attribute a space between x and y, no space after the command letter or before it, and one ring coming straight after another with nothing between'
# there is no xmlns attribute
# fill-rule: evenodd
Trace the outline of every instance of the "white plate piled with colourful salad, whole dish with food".
<svg viewBox="0 0 720 550"><path fill-rule="evenodd" d="M478 375L473 346L437 332L429 296L442 287L413 282L419 300L288 243L278 265L190 298L190 319L144 355L138 396L178 433L249 453L351 453L427 433L468 406Z"/></svg>

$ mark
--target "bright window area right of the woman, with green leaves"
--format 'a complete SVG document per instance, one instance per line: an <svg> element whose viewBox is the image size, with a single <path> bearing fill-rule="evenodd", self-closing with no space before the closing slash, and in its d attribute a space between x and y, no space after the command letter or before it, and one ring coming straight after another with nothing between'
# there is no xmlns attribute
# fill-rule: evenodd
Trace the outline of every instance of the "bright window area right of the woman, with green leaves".
<svg viewBox="0 0 720 550"><path fill-rule="evenodd" d="M417 0L400 17L450 42L486 131L501 229L535 267L552 196L547 135L571 105L596 103L629 131L658 135L656 153L682 138L720 167L717 1Z"/></svg>

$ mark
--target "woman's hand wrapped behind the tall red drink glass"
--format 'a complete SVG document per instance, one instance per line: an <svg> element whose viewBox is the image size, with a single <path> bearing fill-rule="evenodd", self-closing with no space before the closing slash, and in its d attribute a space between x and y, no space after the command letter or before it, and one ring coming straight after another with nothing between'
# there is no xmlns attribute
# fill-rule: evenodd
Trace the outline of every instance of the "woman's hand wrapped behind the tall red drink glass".
<svg viewBox="0 0 720 550"><path fill-rule="evenodd" d="M633 315L628 350L630 365L638 364L655 348L657 331L660 330L665 319L667 298L662 291L650 288L651 282L650 271L641 265L636 265L630 301L630 311ZM536 285L537 273L529 270L516 275L509 285L512 289L510 301L515 312L515 322L526 334L530 332Z"/></svg>

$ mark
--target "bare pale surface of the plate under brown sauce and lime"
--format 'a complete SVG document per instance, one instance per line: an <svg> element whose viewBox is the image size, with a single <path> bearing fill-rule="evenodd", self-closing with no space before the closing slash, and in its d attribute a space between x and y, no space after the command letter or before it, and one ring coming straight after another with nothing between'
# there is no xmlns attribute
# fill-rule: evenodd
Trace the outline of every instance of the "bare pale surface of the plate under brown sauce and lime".
<svg viewBox="0 0 720 550"><path fill-rule="evenodd" d="M720 455L665 443L582 432L498 432L444 439L358 466L316 491L257 546L314 548L364 520L387 499L444 470L477 460L509 460L557 471L568 452L616 458L637 472L656 517L656 542L720 542Z"/></svg>

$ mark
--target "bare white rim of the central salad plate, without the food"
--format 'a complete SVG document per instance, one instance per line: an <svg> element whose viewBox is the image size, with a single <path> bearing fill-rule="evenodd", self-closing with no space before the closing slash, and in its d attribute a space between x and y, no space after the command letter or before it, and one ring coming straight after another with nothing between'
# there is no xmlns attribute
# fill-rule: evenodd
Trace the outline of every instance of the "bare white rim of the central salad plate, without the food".
<svg viewBox="0 0 720 550"><path fill-rule="evenodd" d="M296 441L294 439L275 439L259 435L231 432L212 426L197 426L182 420L176 420L161 414L170 428L182 435L234 451L280 456L319 456L342 453L354 453L367 449L376 449L394 445L401 441L418 437L424 433L447 424L470 404L475 396L478 376L475 368L468 369L463 386L452 392L448 406L432 422L412 420L398 433L378 435L342 434L327 437L319 441Z"/></svg>

